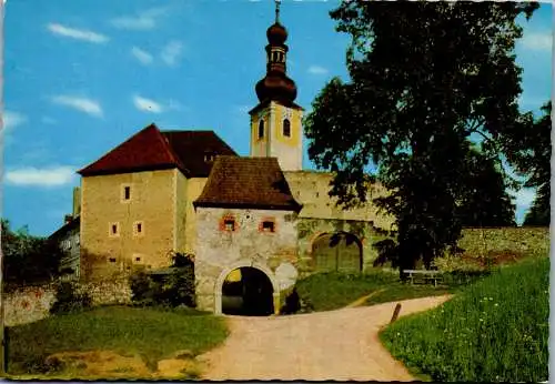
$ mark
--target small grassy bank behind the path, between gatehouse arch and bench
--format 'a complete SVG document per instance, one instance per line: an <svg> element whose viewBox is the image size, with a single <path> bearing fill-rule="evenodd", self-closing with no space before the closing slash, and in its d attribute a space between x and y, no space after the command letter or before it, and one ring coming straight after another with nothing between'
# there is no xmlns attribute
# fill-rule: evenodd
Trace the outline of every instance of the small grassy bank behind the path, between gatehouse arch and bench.
<svg viewBox="0 0 555 384"><path fill-rule="evenodd" d="M371 296L364 305L442 295L453 292L454 287L402 283L398 272L380 270L359 275L317 273L296 283L299 296L315 312L344 307L380 290L384 291Z"/></svg>

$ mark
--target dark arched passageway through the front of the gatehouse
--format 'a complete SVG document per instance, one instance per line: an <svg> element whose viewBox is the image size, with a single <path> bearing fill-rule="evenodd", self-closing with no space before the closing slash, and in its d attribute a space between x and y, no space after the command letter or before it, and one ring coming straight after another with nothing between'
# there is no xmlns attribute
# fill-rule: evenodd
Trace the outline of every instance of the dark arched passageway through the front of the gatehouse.
<svg viewBox="0 0 555 384"><path fill-rule="evenodd" d="M266 274L251 266L231 271L222 285L222 313L241 316L274 313L273 287Z"/></svg>

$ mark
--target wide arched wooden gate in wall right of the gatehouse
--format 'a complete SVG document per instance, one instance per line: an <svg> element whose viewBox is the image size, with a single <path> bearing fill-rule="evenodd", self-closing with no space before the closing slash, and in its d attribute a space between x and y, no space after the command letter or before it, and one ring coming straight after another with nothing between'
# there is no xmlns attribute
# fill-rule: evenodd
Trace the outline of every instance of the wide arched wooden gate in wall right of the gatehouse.
<svg viewBox="0 0 555 384"><path fill-rule="evenodd" d="M362 271L362 244L346 232L325 233L312 243L316 272L359 273Z"/></svg>

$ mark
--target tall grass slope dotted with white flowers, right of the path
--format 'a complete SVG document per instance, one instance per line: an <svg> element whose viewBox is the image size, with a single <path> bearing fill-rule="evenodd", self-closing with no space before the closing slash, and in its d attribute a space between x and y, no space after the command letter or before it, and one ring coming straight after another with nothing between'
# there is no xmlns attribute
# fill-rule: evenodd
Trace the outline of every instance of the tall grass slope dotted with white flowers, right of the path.
<svg viewBox="0 0 555 384"><path fill-rule="evenodd" d="M403 317L381 338L437 382L547 380L549 260L528 260L471 284L450 302Z"/></svg>

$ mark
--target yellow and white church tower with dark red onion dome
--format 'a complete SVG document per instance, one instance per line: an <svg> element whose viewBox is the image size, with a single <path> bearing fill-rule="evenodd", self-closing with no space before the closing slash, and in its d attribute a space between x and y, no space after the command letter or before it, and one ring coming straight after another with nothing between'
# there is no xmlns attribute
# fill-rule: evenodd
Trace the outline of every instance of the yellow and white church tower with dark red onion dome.
<svg viewBox="0 0 555 384"><path fill-rule="evenodd" d="M296 85L286 75L287 31L280 23L280 1L275 22L266 31L266 75L256 83L259 104L251 115L251 156L278 158L283 171L303 166L303 109L294 103Z"/></svg>

